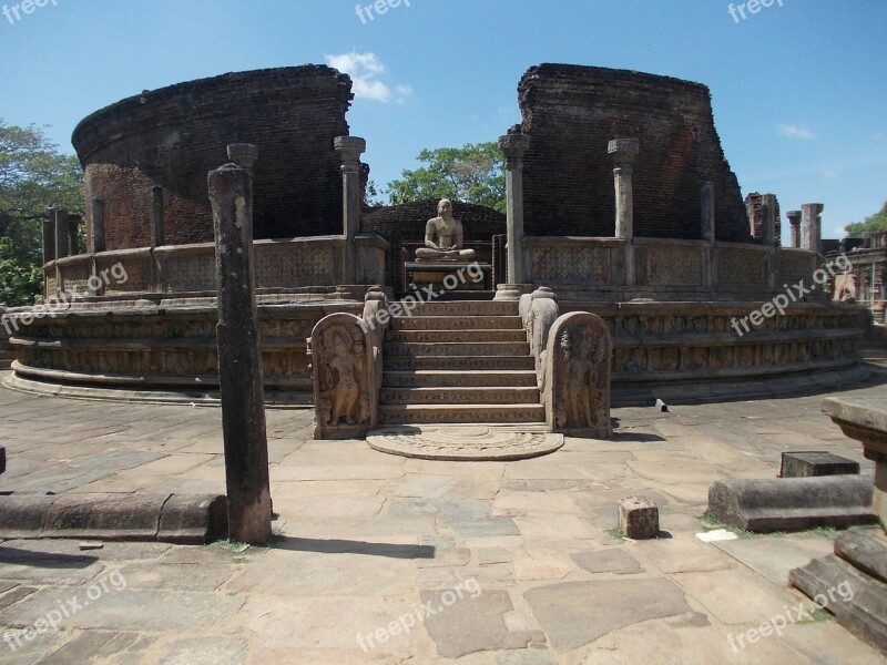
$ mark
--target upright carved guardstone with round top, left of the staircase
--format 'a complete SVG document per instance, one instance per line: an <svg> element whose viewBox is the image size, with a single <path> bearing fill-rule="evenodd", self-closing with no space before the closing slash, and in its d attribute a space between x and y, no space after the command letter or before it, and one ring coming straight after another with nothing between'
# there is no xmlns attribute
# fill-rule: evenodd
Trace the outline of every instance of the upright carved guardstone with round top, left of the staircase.
<svg viewBox="0 0 887 665"><path fill-rule="evenodd" d="M312 331L315 439L359 439L376 424L376 362L360 320L330 314Z"/></svg>

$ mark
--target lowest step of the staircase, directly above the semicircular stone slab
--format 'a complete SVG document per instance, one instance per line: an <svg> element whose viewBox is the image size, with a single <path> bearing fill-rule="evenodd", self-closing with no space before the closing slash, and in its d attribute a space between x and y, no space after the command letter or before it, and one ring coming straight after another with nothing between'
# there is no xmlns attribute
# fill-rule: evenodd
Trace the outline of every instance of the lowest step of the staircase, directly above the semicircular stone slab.
<svg viewBox="0 0 887 665"><path fill-rule="evenodd" d="M544 422L542 405L380 405L379 424Z"/></svg>

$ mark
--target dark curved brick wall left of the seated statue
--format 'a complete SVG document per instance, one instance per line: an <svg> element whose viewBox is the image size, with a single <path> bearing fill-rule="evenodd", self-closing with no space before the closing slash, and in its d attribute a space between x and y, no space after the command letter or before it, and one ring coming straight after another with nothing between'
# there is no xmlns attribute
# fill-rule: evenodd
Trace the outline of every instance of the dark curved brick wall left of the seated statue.
<svg viewBox="0 0 887 665"><path fill-rule="evenodd" d="M151 245L151 188L164 191L164 243L211 242L208 171L230 143L258 145L254 234L341 233L340 161L350 79L323 65L224 74L112 104L84 119L72 143L85 170L86 211L105 201L108 249Z"/></svg>

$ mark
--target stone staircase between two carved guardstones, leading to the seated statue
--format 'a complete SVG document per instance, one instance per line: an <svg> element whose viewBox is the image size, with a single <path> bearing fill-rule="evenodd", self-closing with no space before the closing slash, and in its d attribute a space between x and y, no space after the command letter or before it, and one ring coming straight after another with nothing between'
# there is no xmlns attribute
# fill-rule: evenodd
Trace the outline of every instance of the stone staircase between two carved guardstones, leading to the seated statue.
<svg viewBox="0 0 887 665"><path fill-rule="evenodd" d="M422 303L385 337L379 424L543 422L513 301Z"/></svg>

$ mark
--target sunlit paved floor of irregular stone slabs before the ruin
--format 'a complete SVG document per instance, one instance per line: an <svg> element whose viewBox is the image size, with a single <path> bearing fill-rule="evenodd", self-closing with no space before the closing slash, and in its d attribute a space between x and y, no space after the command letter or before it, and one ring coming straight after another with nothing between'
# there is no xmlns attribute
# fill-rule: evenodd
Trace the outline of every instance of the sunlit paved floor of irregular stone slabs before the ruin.
<svg viewBox="0 0 887 665"><path fill-rule="evenodd" d="M784 450L871 468L820 400L616 409L610 441L503 463L315 442L309 411L269 410L271 548L2 542L0 664L884 663L786 585L827 535L694 536L712 481L773 477ZM4 491L224 492L213 408L0 390L0 443ZM628 494L667 536L608 533ZM58 627L18 645L41 618Z"/></svg>

